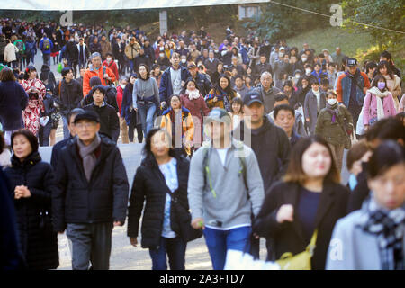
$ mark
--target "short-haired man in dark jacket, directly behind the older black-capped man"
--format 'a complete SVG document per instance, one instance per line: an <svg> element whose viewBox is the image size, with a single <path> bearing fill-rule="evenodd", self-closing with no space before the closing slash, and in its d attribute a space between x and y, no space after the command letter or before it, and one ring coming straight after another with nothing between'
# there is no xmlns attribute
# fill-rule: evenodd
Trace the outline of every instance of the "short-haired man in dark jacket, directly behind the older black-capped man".
<svg viewBox="0 0 405 288"><path fill-rule="evenodd" d="M69 138L67 115L73 109L79 107L83 99L83 88L80 83L73 78L73 70L70 67L62 69L62 80L55 85L54 101L59 106L59 112L63 121L63 139Z"/></svg>

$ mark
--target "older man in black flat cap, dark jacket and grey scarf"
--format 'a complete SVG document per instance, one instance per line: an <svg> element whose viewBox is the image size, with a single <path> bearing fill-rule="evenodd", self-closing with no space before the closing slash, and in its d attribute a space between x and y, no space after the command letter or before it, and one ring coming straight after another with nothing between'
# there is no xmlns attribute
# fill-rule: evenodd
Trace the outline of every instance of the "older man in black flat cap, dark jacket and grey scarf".
<svg viewBox="0 0 405 288"><path fill-rule="evenodd" d="M112 228L125 222L129 184L120 150L99 135L95 112L76 115L77 137L60 151L58 187L52 193L53 224L72 241L72 268L110 266Z"/></svg>

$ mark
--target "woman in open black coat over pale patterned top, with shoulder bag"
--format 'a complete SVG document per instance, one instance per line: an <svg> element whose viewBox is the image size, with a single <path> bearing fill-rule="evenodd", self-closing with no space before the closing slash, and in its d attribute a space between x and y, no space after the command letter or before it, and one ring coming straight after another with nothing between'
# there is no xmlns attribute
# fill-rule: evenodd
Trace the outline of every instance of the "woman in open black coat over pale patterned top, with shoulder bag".
<svg viewBox="0 0 405 288"><path fill-rule="evenodd" d="M187 182L189 162L169 148L171 138L166 130L155 128L149 131L143 150L145 158L134 177L130 194L128 236L130 243L138 244L139 218L142 218L141 247L148 248L152 258L152 270L166 270L168 257L171 270L185 269L187 235L181 231L191 223L187 215L177 217L174 205L180 204L189 210ZM173 201L175 199L175 201Z"/></svg>

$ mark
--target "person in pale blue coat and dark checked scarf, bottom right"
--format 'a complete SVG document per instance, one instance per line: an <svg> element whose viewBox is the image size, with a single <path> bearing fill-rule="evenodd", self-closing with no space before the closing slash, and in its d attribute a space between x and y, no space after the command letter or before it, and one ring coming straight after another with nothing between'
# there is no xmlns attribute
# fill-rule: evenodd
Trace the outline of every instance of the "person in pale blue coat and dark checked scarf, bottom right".
<svg viewBox="0 0 405 288"><path fill-rule="evenodd" d="M367 166L372 193L362 209L338 220L327 269L404 270L405 154L389 140L378 146ZM334 245L338 243L338 245ZM340 257L337 254L338 247Z"/></svg>

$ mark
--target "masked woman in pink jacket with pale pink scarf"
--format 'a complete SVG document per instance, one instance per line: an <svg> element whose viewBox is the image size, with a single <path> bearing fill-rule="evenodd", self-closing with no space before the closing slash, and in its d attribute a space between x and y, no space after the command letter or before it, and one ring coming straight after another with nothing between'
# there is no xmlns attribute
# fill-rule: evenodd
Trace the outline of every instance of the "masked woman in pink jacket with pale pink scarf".
<svg viewBox="0 0 405 288"><path fill-rule="evenodd" d="M392 94L388 91L387 80L382 75L374 77L372 87L365 94L363 121L368 130L376 121L395 116L397 111Z"/></svg>

